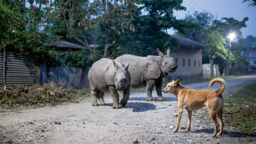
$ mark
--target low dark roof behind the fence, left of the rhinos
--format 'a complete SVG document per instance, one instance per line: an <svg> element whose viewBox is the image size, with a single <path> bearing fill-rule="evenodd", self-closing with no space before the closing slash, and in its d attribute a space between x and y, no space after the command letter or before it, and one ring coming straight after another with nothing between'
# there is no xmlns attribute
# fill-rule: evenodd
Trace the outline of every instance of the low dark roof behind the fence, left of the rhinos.
<svg viewBox="0 0 256 144"><path fill-rule="evenodd" d="M50 45L55 46L55 47L60 47L60 48L68 48L68 49L85 49L84 46L70 43L67 41L51 41Z"/></svg>

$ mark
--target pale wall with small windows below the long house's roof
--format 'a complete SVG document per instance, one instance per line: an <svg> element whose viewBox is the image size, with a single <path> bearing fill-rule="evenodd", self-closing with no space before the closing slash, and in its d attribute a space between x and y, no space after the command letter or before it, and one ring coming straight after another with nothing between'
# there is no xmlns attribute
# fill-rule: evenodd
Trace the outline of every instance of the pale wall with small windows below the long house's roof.
<svg viewBox="0 0 256 144"><path fill-rule="evenodd" d="M170 55L178 62L178 68L174 73L169 74L168 79L202 76L202 50L180 49L178 52L171 53Z"/></svg>

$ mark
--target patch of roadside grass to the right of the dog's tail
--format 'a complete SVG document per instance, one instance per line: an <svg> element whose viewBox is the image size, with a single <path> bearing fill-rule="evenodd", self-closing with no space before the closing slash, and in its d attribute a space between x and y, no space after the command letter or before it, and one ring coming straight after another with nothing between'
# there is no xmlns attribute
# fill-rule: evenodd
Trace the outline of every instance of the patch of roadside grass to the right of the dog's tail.
<svg viewBox="0 0 256 144"><path fill-rule="evenodd" d="M224 112L225 122L251 135L256 127L256 83L237 91L225 102L229 104Z"/></svg>

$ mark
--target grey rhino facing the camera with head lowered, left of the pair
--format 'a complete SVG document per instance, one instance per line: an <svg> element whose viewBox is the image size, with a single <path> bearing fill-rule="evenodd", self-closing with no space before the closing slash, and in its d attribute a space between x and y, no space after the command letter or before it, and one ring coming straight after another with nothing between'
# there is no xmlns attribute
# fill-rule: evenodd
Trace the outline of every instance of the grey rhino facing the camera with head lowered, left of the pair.
<svg viewBox="0 0 256 144"><path fill-rule="evenodd" d="M119 108L119 94L123 91L120 100L124 107L130 96L130 74L127 71L129 62L123 66L118 60L102 58L93 63L89 70L88 79L90 82L92 106L105 106L104 93L110 93L113 98L113 108ZM121 92L122 93L122 92ZM98 100L99 103L98 103Z"/></svg>

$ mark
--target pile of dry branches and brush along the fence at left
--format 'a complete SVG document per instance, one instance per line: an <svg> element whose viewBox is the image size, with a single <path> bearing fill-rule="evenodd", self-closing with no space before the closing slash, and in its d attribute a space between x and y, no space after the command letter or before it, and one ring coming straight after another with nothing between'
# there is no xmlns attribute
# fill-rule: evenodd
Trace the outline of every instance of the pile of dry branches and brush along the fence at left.
<svg viewBox="0 0 256 144"><path fill-rule="evenodd" d="M61 102L76 102L76 90L63 89L60 85L49 83L45 85L14 86L10 89L0 89L2 105L57 105Z"/></svg>

